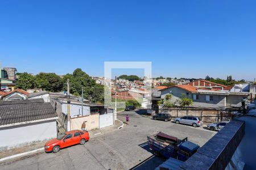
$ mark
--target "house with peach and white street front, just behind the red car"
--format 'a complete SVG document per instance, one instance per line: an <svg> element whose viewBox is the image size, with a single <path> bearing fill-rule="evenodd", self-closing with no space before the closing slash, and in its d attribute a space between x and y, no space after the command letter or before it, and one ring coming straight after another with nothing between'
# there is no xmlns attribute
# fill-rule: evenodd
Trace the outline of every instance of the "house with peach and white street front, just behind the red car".
<svg viewBox="0 0 256 170"><path fill-rule="evenodd" d="M90 103L89 100L84 99L84 103L81 101L81 97L70 96L70 127L67 123L68 114L68 99L67 96L59 93L51 93L50 101L58 115L62 117L59 122L61 123L61 130L75 130L81 129L82 122L86 122L86 130L105 128L114 124L114 112L112 108L105 107L102 104ZM59 131L61 131L59 130Z"/></svg>

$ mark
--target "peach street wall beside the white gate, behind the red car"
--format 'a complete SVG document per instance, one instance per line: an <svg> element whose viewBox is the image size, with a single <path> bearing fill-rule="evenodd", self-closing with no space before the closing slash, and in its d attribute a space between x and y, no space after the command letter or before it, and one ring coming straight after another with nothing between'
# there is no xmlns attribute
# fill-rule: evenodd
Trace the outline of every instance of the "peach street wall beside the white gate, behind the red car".
<svg viewBox="0 0 256 170"><path fill-rule="evenodd" d="M82 123L87 121L86 130L99 128L99 114L90 114L89 116L81 116L71 118L71 130L81 130Z"/></svg>

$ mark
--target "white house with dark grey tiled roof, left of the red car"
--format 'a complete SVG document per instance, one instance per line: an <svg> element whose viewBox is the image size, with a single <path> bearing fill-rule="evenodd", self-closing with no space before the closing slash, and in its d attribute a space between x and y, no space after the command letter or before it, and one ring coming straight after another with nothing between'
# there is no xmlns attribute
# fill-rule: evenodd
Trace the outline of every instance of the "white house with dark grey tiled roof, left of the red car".
<svg viewBox="0 0 256 170"><path fill-rule="evenodd" d="M56 119L43 99L0 101L0 150L56 138Z"/></svg>

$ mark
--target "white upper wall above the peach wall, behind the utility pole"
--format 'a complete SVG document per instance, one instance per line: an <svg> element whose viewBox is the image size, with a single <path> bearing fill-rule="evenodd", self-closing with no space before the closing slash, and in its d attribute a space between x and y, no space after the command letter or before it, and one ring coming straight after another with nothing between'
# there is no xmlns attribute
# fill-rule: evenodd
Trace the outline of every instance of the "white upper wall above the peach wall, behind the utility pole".
<svg viewBox="0 0 256 170"><path fill-rule="evenodd" d="M68 104L67 103L63 103L62 104L62 112L67 114L68 113L68 108L67 108ZM90 107L88 106L81 106L81 105L77 105L77 104L70 104L70 116L71 117L76 117L77 115L82 116L82 108L84 110L84 116L88 116L90 115Z"/></svg>

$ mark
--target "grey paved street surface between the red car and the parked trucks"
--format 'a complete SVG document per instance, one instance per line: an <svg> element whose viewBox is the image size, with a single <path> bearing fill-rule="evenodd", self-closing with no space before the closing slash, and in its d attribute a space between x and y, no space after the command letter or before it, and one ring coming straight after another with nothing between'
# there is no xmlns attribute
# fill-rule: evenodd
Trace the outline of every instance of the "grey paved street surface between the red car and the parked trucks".
<svg viewBox="0 0 256 170"><path fill-rule="evenodd" d="M68 147L56 154L42 152L30 155L15 162L2 163L1 169L129 169L152 155L145 142L147 135L156 131L163 131L180 139L188 137L189 141L200 146L216 133L203 128L154 121L137 113L119 113L118 118L122 121L129 114L129 125L91 138L83 146ZM162 158L155 157L141 166L141 169L154 169L163 161Z"/></svg>

